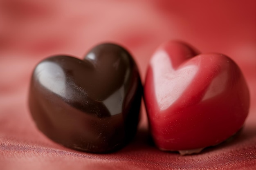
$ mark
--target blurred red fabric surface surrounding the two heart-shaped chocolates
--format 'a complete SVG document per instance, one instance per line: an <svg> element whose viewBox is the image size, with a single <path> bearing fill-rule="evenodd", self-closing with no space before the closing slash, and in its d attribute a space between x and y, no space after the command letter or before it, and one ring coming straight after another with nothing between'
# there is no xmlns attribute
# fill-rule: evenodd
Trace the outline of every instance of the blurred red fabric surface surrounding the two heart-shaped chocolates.
<svg viewBox="0 0 256 170"><path fill-rule="evenodd" d="M116 42L135 57L142 79L159 44L182 40L224 53L245 74L249 116L233 141L198 155L162 152L150 142L146 113L135 139L111 154L60 146L35 126L27 107L34 66L53 54L79 58ZM0 169L256 169L255 0L0 0Z"/></svg>

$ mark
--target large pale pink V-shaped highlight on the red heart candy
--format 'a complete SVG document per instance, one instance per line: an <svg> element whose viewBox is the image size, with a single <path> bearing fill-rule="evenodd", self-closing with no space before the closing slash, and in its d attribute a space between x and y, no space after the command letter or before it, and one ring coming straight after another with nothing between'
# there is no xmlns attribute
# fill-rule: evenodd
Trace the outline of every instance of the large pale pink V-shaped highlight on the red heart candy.
<svg viewBox="0 0 256 170"><path fill-rule="evenodd" d="M155 95L160 110L167 109L182 95L198 71L198 67L195 65L174 70L168 54L164 51L155 53L150 65L153 71Z"/></svg>

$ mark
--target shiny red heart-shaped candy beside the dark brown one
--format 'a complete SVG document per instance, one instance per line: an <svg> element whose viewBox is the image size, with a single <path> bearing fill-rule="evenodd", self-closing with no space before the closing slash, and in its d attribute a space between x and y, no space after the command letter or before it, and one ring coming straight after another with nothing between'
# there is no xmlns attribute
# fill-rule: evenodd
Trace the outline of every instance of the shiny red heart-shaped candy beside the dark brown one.
<svg viewBox="0 0 256 170"><path fill-rule="evenodd" d="M182 154L234 135L249 111L248 87L237 64L180 42L163 44L153 55L144 97L155 144Z"/></svg>

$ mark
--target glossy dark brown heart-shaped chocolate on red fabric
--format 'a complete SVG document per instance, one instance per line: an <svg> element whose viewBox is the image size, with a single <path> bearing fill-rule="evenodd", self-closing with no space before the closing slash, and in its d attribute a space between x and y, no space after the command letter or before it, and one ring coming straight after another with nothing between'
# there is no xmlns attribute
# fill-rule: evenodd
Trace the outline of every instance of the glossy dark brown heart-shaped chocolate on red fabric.
<svg viewBox="0 0 256 170"><path fill-rule="evenodd" d="M115 44L101 44L83 60L59 55L40 62L31 77L29 108L53 141L86 152L112 152L135 135L141 95L131 55Z"/></svg>

